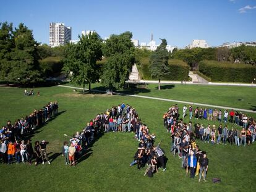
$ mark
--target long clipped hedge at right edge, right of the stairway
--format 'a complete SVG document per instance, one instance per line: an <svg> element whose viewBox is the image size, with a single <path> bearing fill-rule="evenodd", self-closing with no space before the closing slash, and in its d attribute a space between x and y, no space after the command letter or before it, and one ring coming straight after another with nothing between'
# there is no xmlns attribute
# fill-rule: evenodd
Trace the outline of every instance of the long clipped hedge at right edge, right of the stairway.
<svg viewBox="0 0 256 192"><path fill-rule="evenodd" d="M251 83L256 78L256 66L250 64L201 61L199 71L212 81Z"/></svg>

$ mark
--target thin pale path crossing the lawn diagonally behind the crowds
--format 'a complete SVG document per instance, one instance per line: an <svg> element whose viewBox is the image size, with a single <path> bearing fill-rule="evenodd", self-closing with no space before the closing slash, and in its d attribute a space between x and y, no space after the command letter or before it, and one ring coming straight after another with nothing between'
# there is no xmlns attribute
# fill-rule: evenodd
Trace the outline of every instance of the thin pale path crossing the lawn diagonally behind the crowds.
<svg viewBox="0 0 256 192"><path fill-rule="evenodd" d="M58 85L61 87L66 87L66 88L73 88L73 89L77 89L77 90L82 90L83 88L80 87L75 87L75 86L67 86L67 85ZM88 89L85 89L88 90ZM94 92L98 92L98 93L106 93L106 91L101 91L101 90L92 90ZM134 97L134 98L144 98L144 99L155 99L155 100L159 100L159 101L168 101L168 102L181 102L184 104L190 104L190 105L195 105L195 106L205 106L205 107L213 107L213 108L218 108L218 109L233 109L234 111L244 111L244 112L250 112L250 113L255 113L256 111L252 111L249 109L239 109L239 108L234 108L234 107L226 107L226 106L215 106L215 105L211 105L211 104L203 104L200 102L190 102L190 101L181 101L181 100L175 100L175 99L164 99L164 98L155 98L155 97L150 97L150 96L142 96L142 95L137 95L137 94L126 94L126 93L118 93L118 92L113 92L113 94L119 94L119 95L124 95L124 96L130 96L130 97Z"/></svg>

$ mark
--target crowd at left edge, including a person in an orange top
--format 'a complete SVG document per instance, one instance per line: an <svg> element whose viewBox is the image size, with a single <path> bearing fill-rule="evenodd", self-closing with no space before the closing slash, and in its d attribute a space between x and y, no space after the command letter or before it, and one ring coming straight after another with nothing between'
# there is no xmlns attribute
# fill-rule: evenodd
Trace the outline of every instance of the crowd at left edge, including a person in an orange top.
<svg viewBox="0 0 256 192"><path fill-rule="evenodd" d="M58 114L58 102L49 102L40 110L34 111L15 120L12 124L11 120L7 121L7 125L2 126L0 130L0 162L12 164L15 160L17 164L20 162L28 162L32 164L35 159L35 165L40 162L45 164L49 162L46 152L47 141L35 141L33 148L29 136L33 131L45 124L49 119Z"/></svg>

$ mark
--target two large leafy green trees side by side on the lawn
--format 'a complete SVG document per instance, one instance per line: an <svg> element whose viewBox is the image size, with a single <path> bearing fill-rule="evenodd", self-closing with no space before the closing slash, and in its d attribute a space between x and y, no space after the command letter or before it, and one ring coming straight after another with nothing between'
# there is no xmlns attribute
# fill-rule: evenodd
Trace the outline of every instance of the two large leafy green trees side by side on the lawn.
<svg viewBox="0 0 256 192"><path fill-rule="evenodd" d="M79 36L79 43L69 44L64 58L64 71L72 81L83 86L101 80L101 84L113 93L114 88L121 88L129 77L135 62L134 44L130 41L132 33L111 35L106 43L95 33ZM103 58L104 65L97 64Z"/></svg>

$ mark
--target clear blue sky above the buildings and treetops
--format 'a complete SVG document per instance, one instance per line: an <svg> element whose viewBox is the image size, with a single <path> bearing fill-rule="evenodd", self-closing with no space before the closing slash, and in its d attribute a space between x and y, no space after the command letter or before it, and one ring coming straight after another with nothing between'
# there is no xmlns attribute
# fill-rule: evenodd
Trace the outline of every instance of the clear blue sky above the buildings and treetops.
<svg viewBox="0 0 256 192"><path fill-rule="evenodd" d="M49 43L49 22L72 27L72 40L82 30L101 37L132 31L139 42L166 38L182 48L193 39L210 46L256 41L256 0L23 0L1 1L0 22L25 23L35 40Z"/></svg>

